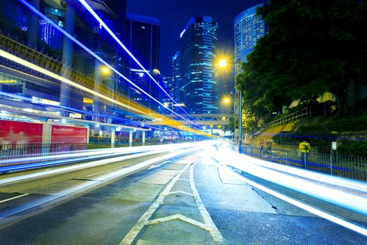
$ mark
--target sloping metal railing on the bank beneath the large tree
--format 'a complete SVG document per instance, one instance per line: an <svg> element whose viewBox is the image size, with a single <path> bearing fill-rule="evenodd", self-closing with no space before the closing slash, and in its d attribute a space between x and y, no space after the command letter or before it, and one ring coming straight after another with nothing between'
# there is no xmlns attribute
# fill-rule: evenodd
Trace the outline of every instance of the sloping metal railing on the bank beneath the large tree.
<svg viewBox="0 0 367 245"><path fill-rule="evenodd" d="M331 109L326 109L326 106L311 106L303 108L299 111L291 113L287 116L274 120L271 123L267 123L262 128L268 129L270 127L277 127L280 125L286 125L288 123L295 122L296 120L300 120L302 118L311 118L315 116L326 116L331 113Z"/></svg>

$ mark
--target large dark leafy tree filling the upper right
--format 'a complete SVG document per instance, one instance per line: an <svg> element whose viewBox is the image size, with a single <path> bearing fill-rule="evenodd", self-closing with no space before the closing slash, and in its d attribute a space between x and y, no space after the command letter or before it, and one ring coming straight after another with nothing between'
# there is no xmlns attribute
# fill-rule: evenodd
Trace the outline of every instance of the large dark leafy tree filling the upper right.
<svg viewBox="0 0 367 245"><path fill-rule="evenodd" d="M361 0L273 0L259 8L268 25L237 78L245 103L280 111L307 94L336 94L367 82L367 3Z"/></svg>

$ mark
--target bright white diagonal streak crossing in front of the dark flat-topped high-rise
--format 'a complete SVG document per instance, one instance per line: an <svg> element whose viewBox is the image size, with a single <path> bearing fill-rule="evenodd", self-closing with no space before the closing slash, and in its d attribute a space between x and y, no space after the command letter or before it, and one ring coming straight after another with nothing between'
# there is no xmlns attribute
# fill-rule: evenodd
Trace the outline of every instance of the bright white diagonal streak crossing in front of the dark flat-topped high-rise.
<svg viewBox="0 0 367 245"><path fill-rule="evenodd" d="M147 73L148 76L150 76L150 78L152 78L152 80L154 80L154 83L156 83L159 88L168 95L168 97L172 100L172 102L174 102L175 104L178 104L177 102L175 102L175 100L171 97L170 94L168 94L168 92L166 92L166 90L164 90L163 87L161 87L161 85L157 82L157 80L155 80L153 78L152 75L150 75L150 73L145 69L145 67L138 61L138 59L136 59L136 57L130 52L130 50L124 45L124 43L122 43L122 41L120 41L119 38L117 38L117 36L113 33L113 31L111 31L110 27L108 27L108 25L106 25L106 23L99 17L99 15L96 14L96 12L93 10L93 8L91 8L91 6L89 6L89 4L87 3L87 1L85 0L78 0L80 3L82 3L83 6L85 6L85 8L87 8L87 10L89 11L89 13L91 13L93 15L93 17L100 23L100 25L102 27L104 27L104 29L106 29L106 31L110 34L110 36L113 37L113 39L115 39L115 41L125 50L125 52L127 52L127 54L134 59L134 61L136 62L136 64L138 64L138 66L141 67L141 69L143 69L143 71L145 71L145 73ZM180 109L182 109L182 111L184 111L185 113L187 113L181 106ZM187 113L188 114L188 113Z"/></svg>

